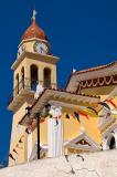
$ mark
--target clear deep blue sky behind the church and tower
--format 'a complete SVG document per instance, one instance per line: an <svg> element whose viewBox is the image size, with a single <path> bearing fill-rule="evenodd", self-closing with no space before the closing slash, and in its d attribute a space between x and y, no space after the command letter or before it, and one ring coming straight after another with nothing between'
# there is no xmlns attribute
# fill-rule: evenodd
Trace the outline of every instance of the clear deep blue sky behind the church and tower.
<svg viewBox="0 0 117 177"><path fill-rule="evenodd" d="M82 70L117 60L116 0L1 0L0 1L0 162L7 164L12 113L7 102L12 92L11 64L21 35L36 22L45 31L52 53L61 58L59 84L64 86L72 69Z"/></svg>

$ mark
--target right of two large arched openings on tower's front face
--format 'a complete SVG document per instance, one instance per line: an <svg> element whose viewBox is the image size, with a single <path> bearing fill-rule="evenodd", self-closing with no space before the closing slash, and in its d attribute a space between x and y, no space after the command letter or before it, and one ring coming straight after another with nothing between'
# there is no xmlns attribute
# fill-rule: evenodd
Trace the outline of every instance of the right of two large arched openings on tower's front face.
<svg viewBox="0 0 117 177"><path fill-rule="evenodd" d="M44 87L51 87L51 70L44 69Z"/></svg>

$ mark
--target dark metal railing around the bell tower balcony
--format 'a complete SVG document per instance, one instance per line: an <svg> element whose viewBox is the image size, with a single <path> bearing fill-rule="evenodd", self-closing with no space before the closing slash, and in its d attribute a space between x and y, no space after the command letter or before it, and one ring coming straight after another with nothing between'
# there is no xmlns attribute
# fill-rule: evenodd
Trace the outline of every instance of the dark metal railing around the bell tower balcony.
<svg viewBox="0 0 117 177"><path fill-rule="evenodd" d="M43 81L35 81L35 80L29 80L29 79L23 79L19 82L19 84L14 87L12 94L8 98L8 106L9 104L14 100L15 96L18 96L22 90L29 90L29 91L36 91L36 85L41 84L44 88L56 88L55 83L50 83L50 82L43 82Z"/></svg>

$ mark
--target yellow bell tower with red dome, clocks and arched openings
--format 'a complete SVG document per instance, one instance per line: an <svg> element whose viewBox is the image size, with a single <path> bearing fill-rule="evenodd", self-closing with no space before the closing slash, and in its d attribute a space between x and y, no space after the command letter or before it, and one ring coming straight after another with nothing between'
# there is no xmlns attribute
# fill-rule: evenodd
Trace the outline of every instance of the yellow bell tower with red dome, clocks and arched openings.
<svg viewBox="0 0 117 177"><path fill-rule="evenodd" d="M11 66L13 70L13 92L9 98L8 110L13 112L10 157L12 156L14 159L10 158L9 165L28 160L25 128L19 127L18 124L25 114L25 107L32 105L34 101L38 83L44 88L56 87L59 58L52 55L47 37L38 25L35 15L36 12L33 10L32 23L21 38L17 60ZM22 142L21 147L19 140Z"/></svg>

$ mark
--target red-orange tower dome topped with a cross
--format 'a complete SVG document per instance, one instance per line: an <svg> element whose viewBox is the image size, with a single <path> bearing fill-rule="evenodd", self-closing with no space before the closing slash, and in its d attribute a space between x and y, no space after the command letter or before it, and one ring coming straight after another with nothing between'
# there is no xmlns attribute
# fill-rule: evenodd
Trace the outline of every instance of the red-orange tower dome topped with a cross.
<svg viewBox="0 0 117 177"><path fill-rule="evenodd" d="M32 17L32 24L23 33L22 40L28 40L28 39L32 39L32 38L38 38L38 39L41 39L41 40L47 40L44 31L35 22L35 14L36 13L34 11L33 17Z"/></svg>

